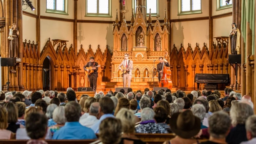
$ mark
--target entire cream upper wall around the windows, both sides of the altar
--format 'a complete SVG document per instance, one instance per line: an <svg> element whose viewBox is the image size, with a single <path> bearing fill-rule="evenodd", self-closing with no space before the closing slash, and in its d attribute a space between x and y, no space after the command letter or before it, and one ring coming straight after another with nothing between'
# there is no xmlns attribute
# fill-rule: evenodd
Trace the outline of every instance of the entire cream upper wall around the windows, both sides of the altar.
<svg viewBox="0 0 256 144"><path fill-rule="evenodd" d="M36 0L32 0L32 4L36 7ZM185 18L195 18L195 17L205 17L208 16L208 1L202 0L202 14L191 14L191 15L182 15L178 16L178 1L171 1L171 20L172 19L185 19ZM131 8L132 1L126 1L129 12L125 13L127 21L130 21L131 18ZM223 14L229 12L231 9L225 10L216 10L216 1L213 1L213 15ZM65 19L74 19L74 1L68 1L68 14L52 14L46 13L46 1L40 1L41 6L41 15L58 17ZM120 10L119 2L112 0L112 17L86 17L85 16L85 0L77 1L77 19L78 20L98 20L98 21L115 21L116 18L116 9ZM163 19L164 9L167 8L167 1L159 0L159 15L160 20ZM29 8L26 10L32 12ZM33 13L33 12L32 12ZM36 10L34 11L34 14ZM118 12L119 13L119 12ZM118 15L120 20L120 16ZM153 20L156 17L152 17ZM229 27L232 20L232 16L224 18L213 19L213 36L226 36L228 35ZM25 26L32 28L32 31L28 31ZM23 15L23 41L34 40L36 38L35 33L36 21L35 18ZM180 48L182 43L185 48L187 44L191 43L192 49L195 48L196 43L199 43L199 47L203 47L203 43L207 44L209 48L209 23L208 20L198 20L198 21L184 21L184 22L174 22L171 23L171 48L173 44ZM40 24L40 41L41 41L41 50L45 45L46 41L50 37L51 39L62 39L68 40L67 46L69 47L73 44L73 22L64 22L58 20L47 20L41 19ZM227 31L227 32L226 32ZM83 45L85 51L88 50L89 45L92 45L93 51L96 51L97 45L100 45L101 51L105 50L106 45L109 45L110 50L113 50L113 26L110 23L78 23L77 24L77 50L80 49L80 45Z"/></svg>

